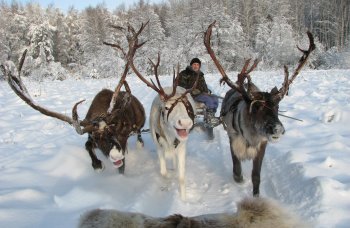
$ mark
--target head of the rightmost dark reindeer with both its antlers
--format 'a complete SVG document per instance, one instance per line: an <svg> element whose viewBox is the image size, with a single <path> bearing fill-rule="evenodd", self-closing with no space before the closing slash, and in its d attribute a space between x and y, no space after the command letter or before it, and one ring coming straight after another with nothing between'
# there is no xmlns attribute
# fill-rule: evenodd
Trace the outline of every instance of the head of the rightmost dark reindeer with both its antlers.
<svg viewBox="0 0 350 228"><path fill-rule="evenodd" d="M293 80L299 74L301 68L305 65L309 54L315 49L312 34L310 32L307 33L310 41L308 50L302 50L298 47L298 49L303 52L303 56L301 57L299 65L292 77L289 78L288 68L285 66L285 78L281 89L278 90L275 87L270 92L261 92L252 83L249 75L249 73L252 72L258 65L257 60L254 61L253 65L249 69L248 66L250 59L245 62L242 71L237 76L237 82L234 83L229 79L210 46L210 37L215 23L216 22L214 21L212 24L210 24L205 32L204 45L222 75L222 79L220 81L227 83L232 88L231 94L237 92L244 100L244 103L240 104L244 106L242 108L245 109L245 116L242 118L248 118L246 123L251 124L252 128L250 129L253 129L251 135L256 133L260 136L266 137L268 141L277 141L285 132L284 127L278 118L279 102L283 99L284 95L287 94L289 85L293 82Z"/></svg>

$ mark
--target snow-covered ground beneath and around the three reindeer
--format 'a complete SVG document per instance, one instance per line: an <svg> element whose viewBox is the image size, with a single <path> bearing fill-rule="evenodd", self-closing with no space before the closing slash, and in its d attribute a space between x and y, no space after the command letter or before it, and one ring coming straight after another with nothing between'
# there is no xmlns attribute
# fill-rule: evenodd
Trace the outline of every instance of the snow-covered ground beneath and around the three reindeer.
<svg viewBox="0 0 350 228"><path fill-rule="evenodd" d="M281 85L283 72L255 72L252 77L269 90ZM206 78L215 93L223 96L228 90L218 86L219 75ZM170 78L162 80L167 84ZM155 93L136 78L128 81L149 112ZM114 88L116 80L25 83L39 104L67 115L76 101L87 99L79 106L84 117L93 96ZM303 122L280 117L286 134L267 147L261 195L283 203L315 227L349 227L350 71L303 71L280 110ZM149 134L143 135L141 150L135 137L129 139L125 175L102 156L106 169L96 173L84 149L86 136L31 109L0 82L0 227L75 227L80 215L92 208L151 216L234 212L236 202L251 195L251 162L244 163L245 182L234 183L228 138L222 126L214 133L211 142L200 131L189 138L188 201L182 202L175 171L168 179L159 173Z"/></svg>

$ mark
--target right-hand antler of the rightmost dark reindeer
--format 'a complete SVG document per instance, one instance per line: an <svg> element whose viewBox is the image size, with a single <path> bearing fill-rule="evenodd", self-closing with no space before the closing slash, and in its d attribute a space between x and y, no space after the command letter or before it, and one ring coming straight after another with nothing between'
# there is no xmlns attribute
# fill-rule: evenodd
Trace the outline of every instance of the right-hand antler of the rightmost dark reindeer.
<svg viewBox="0 0 350 228"><path fill-rule="evenodd" d="M316 48L316 45L314 43L314 37L312 36L312 33L307 31L307 36L308 36L309 42L310 42L309 48L307 50L303 50L303 49L299 48L299 46L297 46L297 48L299 49L299 51L301 51L303 53L303 55L301 56L301 58L299 60L299 64L298 64L297 68L295 69L293 75L290 78L289 78L288 67L284 66L284 81L283 81L282 87L279 89L278 94L276 95L279 100L282 100L284 95L286 95L288 93L290 84L292 84L294 79L299 75L301 68L303 68L303 66L306 64L310 53L313 50L315 50L315 48Z"/></svg>

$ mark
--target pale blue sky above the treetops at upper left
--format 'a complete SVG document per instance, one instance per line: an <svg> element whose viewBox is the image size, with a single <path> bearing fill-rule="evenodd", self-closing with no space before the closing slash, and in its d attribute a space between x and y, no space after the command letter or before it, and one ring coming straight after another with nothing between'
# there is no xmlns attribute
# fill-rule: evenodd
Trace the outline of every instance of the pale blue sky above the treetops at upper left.
<svg viewBox="0 0 350 228"><path fill-rule="evenodd" d="M159 3L163 0L149 0L150 3ZM6 0L6 2L11 3L12 0ZM117 6L121 4L125 4L126 7L132 6L139 0L16 0L16 2L20 2L26 4L27 2L36 2L39 3L42 7L47 7L49 4L54 4L55 7L62 9L62 11L66 11L70 6L74 6L74 8L81 10L88 6L96 6L99 3L105 3L106 7L110 10L114 10ZM147 2L147 0L145 0Z"/></svg>

